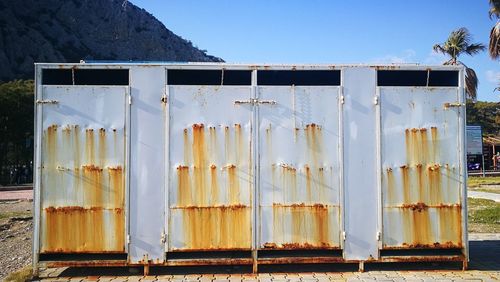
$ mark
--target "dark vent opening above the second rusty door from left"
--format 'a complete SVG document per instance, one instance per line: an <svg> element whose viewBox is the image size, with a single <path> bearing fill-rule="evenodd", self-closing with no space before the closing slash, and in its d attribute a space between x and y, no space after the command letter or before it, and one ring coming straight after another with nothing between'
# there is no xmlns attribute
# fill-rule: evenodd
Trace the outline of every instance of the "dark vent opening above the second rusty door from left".
<svg viewBox="0 0 500 282"><path fill-rule="evenodd" d="M251 85L247 70L168 70L169 85Z"/></svg>

